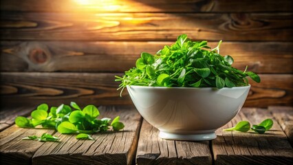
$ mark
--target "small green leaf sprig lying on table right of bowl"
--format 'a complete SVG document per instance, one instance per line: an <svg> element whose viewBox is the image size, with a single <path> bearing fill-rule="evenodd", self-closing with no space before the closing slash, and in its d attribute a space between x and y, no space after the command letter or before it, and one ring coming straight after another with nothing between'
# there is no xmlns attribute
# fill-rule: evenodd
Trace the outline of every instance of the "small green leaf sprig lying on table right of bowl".
<svg viewBox="0 0 293 165"><path fill-rule="evenodd" d="M265 119L260 124L256 125L253 124L250 128L250 123L248 121L241 121L236 124L236 126L224 129L223 131L240 131L240 132L247 132L249 130L252 130L256 133L262 134L265 133L265 131L268 131L272 128L273 125L272 119Z"/></svg>

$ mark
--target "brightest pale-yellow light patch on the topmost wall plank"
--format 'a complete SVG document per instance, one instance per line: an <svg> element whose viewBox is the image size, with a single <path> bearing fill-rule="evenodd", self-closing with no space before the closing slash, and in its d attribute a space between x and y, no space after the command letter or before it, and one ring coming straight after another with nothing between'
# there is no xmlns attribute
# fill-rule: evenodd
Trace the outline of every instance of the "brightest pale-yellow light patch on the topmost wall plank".
<svg viewBox="0 0 293 165"><path fill-rule="evenodd" d="M120 8L117 0L74 0L78 5L89 10L117 11Z"/></svg>

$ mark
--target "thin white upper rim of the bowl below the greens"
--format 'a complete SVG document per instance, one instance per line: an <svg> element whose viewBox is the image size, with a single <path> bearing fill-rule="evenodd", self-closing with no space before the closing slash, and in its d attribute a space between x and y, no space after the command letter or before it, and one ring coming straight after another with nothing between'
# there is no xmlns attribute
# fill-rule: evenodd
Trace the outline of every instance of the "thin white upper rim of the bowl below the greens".
<svg viewBox="0 0 293 165"><path fill-rule="evenodd" d="M135 88L149 88L149 89L196 89L196 90L220 90L217 87L150 87L150 86L140 86L140 85L127 85L127 89L129 87L135 87ZM224 87L221 89L247 89L250 88L251 85L248 84L247 86L241 86L241 87Z"/></svg>

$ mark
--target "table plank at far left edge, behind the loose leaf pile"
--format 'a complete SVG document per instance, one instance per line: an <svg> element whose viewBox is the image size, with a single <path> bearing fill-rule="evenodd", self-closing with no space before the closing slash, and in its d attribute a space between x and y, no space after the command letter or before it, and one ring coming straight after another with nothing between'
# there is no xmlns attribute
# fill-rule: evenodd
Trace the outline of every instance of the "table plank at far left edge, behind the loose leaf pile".
<svg viewBox="0 0 293 165"><path fill-rule="evenodd" d="M14 105L14 107L2 108L0 111L0 131L14 124L14 119L17 116L28 116L32 111L34 111L34 107L16 107Z"/></svg>

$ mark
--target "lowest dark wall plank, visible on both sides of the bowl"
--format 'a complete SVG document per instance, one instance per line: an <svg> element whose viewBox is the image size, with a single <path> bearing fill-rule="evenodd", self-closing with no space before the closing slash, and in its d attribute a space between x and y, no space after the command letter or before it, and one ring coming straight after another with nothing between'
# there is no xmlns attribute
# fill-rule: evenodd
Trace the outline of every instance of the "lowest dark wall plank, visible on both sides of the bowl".
<svg viewBox="0 0 293 165"><path fill-rule="evenodd" d="M132 104L127 90L122 98L117 91L118 82L114 75L83 73L30 73L3 72L2 86L13 89L1 96L2 104ZM252 85L246 107L267 107L268 105L292 105L292 74L260 74L261 83L250 80ZM17 89L17 90L15 90Z"/></svg>

